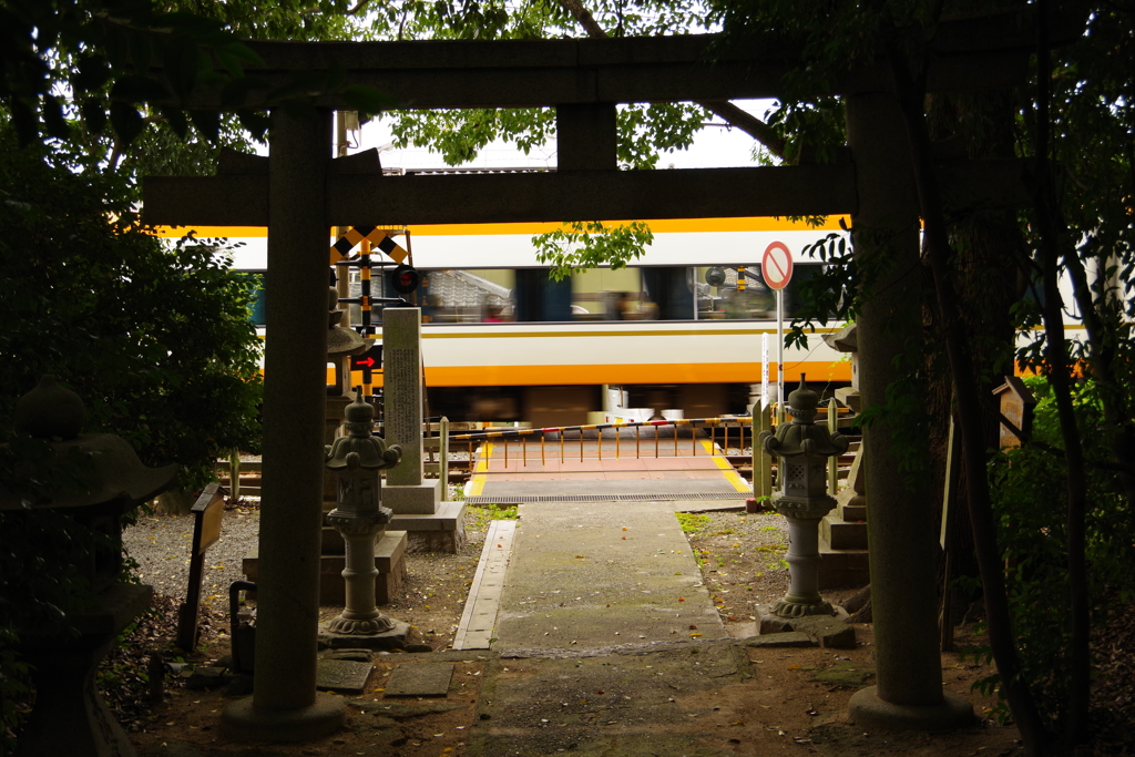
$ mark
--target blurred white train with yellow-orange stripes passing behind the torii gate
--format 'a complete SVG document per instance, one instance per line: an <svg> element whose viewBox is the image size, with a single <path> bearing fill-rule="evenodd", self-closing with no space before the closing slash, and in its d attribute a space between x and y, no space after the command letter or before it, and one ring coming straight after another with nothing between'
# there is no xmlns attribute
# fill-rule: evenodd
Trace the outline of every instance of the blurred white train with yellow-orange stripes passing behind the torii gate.
<svg viewBox="0 0 1135 757"><path fill-rule="evenodd" d="M783 295L790 321L797 285L819 266L801 251L841 233L838 219L817 228L773 218L648 225L654 242L632 266L560 283L549 279L532 244L555 224L404 229L396 241L422 275L415 294L430 414L562 426L633 407L686 418L747 413L766 344L772 381L779 368L774 295L760 277L762 255L772 242L792 253L794 272ZM268 269L264 229L196 232L244 243L236 269ZM382 280L376 272L372 284ZM393 296L389 289L373 294ZM358 305L351 313L360 323ZM815 388L850 381L847 355L822 338L838 327L829 326L809 336L807 348L784 352L787 378L807 373Z"/></svg>

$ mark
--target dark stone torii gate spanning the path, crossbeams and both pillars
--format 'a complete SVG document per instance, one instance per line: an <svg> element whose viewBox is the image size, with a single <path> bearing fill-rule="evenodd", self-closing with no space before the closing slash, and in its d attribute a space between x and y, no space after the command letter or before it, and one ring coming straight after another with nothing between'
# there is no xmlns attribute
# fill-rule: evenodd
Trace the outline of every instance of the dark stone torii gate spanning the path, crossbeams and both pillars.
<svg viewBox="0 0 1135 757"><path fill-rule="evenodd" d="M987 19L985 23L989 23ZM1006 87L1023 79L1027 31L1006 24L974 35L966 23L938 33L934 91ZM377 154L331 159L334 95L313 115L271 111L269 157L222 161L217 177L148 177L144 217L160 225L267 226L264 482L260 524L259 620L251 699L222 716L252 739L297 741L333 731L343 717L316 693L319 533L323 451L323 364L329 227L347 225L566 221L600 218L709 218L850 213L856 225L891 229L901 261L885 303L864 311L860 386L883 399L892 358L917 329L918 216L905 132L885 66L849 75L850 159L827 166L621 171L615 108L624 102L775 98L787 51L706 61L712 36L501 42L252 42L255 72L280 83L295 70L350 61L347 82L370 85L414 108L555 107L555 173L382 176ZM257 106L260 103L251 103ZM191 107L219 108L202 92ZM958 205L1025 195L1012 162L952 163L948 199ZM863 254L877 254L865 250ZM857 251L857 254L860 254ZM872 519L877 696L899 718L932 724L957 709L943 699L936 646L933 513L901 485L890 431L865 443ZM890 487L890 488L888 488Z"/></svg>

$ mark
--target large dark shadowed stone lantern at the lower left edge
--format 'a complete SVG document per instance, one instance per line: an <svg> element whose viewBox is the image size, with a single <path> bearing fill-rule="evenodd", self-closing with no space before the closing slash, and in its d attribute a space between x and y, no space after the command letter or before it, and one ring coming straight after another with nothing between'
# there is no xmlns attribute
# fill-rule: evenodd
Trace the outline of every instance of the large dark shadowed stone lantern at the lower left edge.
<svg viewBox="0 0 1135 757"><path fill-rule="evenodd" d="M146 468L134 449L112 434L81 434L83 401L44 376L16 405L15 428L45 443L42 454L16 465L11 480L0 481L0 511L10 518L35 518L35 511L69 515L91 536L67 538L61 550L69 565L44 562L34 570L76 575L86 583L89 602L50 623L27 621L18 628L18 648L32 665L35 706L20 733L18 757L134 755L134 748L94 685L95 668L118 634L150 606L153 588L123 583L121 515L161 494L178 465ZM7 446L7 445L5 445ZM58 522L57 522L58 523ZM57 533L52 539L64 540ZM35 549L25 545L25 549ZM32 569L30 569L32 570ZM36 598L43 604L58 597ZM51 606L51 605L48 605Z"/></svg>

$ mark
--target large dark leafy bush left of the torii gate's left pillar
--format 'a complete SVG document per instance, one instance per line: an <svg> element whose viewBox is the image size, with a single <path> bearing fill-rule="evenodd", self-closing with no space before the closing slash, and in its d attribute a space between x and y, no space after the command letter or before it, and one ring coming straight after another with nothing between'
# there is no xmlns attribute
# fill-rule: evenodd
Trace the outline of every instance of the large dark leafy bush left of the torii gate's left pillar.
<svg viewBox="0 0 1135 757"><path fill-rule="evenodd" d="M220 451L257 448L249 285L215 245L143 233L120 178L52 167L10 132L0 148L0 419L53 373L86 403L87 432L182 463L185 488L211 480Z"/></svg>

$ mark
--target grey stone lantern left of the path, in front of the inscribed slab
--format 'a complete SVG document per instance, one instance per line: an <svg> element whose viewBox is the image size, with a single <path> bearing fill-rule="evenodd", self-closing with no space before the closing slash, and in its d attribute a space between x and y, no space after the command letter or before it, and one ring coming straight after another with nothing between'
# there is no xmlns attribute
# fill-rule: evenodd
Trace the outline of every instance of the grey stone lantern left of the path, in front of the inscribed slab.
<svg viewBox="0 0 1135 757"><path fill-rule="evenodd" d="M327 624L331 633L373 636L386 633L395 622L375 605L375 540L386 530L392 511L382 507L382 474L402 460L402 448L386 446L373 436L375 409L355 393L344 412L347 435L327 447L326 468L336 478L335 510L327 514L346 542L346 608Z"/></svg>

